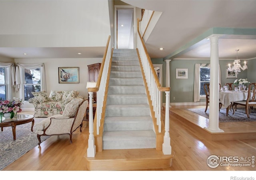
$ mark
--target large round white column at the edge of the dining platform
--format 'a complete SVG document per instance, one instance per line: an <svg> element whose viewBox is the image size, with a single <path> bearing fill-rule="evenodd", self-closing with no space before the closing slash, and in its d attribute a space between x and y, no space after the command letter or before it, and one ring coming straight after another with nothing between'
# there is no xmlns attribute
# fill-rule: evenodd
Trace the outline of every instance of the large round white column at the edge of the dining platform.
<svg viewBox="0 0 256 180"><path fill-rule="evenodd" d="M219 128L219 48L218 36L210 38L210 111L209 126L206 128L210 132L224 132Z"/></svg>

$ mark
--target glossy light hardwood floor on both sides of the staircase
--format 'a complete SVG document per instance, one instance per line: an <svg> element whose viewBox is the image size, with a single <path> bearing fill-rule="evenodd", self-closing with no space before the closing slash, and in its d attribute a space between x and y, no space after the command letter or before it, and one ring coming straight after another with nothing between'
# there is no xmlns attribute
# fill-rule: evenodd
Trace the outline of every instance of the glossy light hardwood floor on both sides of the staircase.
<svg viewBox="0 0 256 180"><path fill-rule="evenodd" d="M202 117L197 117L194 113L190 114L186 108L198 108L195 106L172 106L179 110L180 114L185 114L189 121L194 121L198 126L205 126L207 122ZM164 116L164 112L162 112ZM178 116L170 113L170 137L172 151L175 156L172 166L164 169L153 169L155 171L255 171L252 166L233 167L218 166L210 168L206 160L210 155L216 156L238 156L251 157L256 155L256 140L208 140L204 134L191 128ZM227 122L226 122L227 123ZM221 124L220 128L225 131L233 131L233 127L238 127L241 131L248 130L256 124L249 122L243 126L238 122ZM88 147L88 126L74 132L73 143L69 143L69 136L51 136L40 146L36 146L24 156L4 168L2 171L86 171L86 150ZM152 169L150 169L152 170ZM42 174L43 175L43 174Z"/></svg>

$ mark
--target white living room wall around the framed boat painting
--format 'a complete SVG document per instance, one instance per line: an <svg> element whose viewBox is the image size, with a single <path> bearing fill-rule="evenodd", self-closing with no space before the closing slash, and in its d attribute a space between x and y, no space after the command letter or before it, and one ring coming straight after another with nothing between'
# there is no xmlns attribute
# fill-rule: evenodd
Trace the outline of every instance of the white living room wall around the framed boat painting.
<svg viewBox="0 0 256 180"><path fill-rule="evenodd" d="M78 90L79 95L88 98L86 82L88 81L89 64L102 62L102 58L54 58L54 59L15 59L15 63L44 63L46 71L46 92L51 90ZM59 84L58 67L79 67L79 83ZM19 92L14 94L20 97Z"/></svg>

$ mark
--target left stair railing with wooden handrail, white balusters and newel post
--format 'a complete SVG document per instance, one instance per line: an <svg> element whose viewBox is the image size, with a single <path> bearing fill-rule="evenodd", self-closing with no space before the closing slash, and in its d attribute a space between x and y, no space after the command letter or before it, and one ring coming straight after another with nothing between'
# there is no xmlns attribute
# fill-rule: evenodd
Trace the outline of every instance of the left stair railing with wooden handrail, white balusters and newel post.
<svg viewBox="0 0 256 180"><path fill-rule="evenodd" d="M96 154L96 146L94 143L93 121L96 120L96 127L97 127L96 131L97 131L97 134L99 134L99 127L102 119L102 108L104 104L104 94L106 90L106 83L107 83L108 70L109 70L109 64L110 64L110 56L111 56L111 46L110 46L110 36L108 36L108 41L104 51L96 86L87 88L89 93L89 138L88 138L87 157L94 157ZM96 116L94 120L93 120L93 113L92 113L93 112L92 111L93 92L97 93Z"/></svg>

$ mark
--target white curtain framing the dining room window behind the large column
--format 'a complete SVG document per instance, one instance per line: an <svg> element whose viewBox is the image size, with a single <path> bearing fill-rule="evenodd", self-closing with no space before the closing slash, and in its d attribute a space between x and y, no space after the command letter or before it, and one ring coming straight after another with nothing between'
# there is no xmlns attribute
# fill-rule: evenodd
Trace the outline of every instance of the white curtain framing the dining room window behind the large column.
<svg viewBox="0 0 256 180"><path fill-rule="evenodd" d="M200 101L200 68L210 68L210 64L195 64L194 75L194 102ZM220 76L220 64L219 64L219 83L221 84Z"/></svg>

